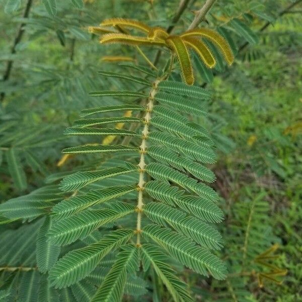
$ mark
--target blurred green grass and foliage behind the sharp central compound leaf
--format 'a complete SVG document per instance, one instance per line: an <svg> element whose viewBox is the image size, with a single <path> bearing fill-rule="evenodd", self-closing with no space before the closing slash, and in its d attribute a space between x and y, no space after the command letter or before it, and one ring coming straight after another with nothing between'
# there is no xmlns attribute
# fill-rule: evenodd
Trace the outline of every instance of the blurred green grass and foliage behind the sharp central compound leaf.
<svg viewBox="0 0 302 302"><path fill-rule="evenodd" d="M108 56L145 64L135 48L100 45L87 27L98 26L105 18L124 17L167 28L178 4L176 0L0 0L0 202L28 194L85 164L84 157L58 164L60 150L77 140L62 133L82 109L96 107L88 92L120 85L97 75L100 69L125 68ZM191 1L174 30L187 28L192 11L202 4ZM247 221L254 219L251 212L259 206L251 238L260 245L261 237L262 251L277 243L276 266L287 274L282 284L264 276L261 287L254 278L259 278L256 268L243 285L242 278L207 283L184 272L203 300L302 300L301 4L223 0L205 20L230 36L236 53L232 67L225 67L222 60L213 71L197 64L196 75L196 85L214 93L208 128L219 155L212 169L225 212L219 226L225 240L222 253L226 260L237 254L238 259L244 257ZM154 60L156 50L145 53ZM19 225L0 225L0 232ZM230 260L232 267L238 264L236 257Z"/></svg>

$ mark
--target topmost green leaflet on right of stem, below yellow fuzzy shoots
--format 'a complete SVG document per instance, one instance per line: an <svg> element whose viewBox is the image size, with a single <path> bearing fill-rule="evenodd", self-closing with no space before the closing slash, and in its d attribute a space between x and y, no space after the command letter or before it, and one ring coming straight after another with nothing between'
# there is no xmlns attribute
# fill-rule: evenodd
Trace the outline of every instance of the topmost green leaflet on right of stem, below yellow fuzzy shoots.
<svg viewBox="0 0 302 302"><path fill-rule="evenodd" d="M208 90L197 86L188 86L181 82L163 81L159 84L159 89L173 93L175 95L183 95L191 98L208 100L211 93Z"/></svg>

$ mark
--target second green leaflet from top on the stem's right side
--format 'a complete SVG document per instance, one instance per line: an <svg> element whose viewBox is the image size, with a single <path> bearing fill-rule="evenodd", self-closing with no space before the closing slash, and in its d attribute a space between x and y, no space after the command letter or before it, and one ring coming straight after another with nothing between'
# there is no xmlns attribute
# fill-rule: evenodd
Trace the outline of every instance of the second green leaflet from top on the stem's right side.
<svg viewBox="0 0 302 302"><path fill-rule="evenodd" d="M167 105L190 115L204 116L207 114L207 111L201 105L202 103L200 101L197 103L197 101L191 101L184 97L175 96L165 92L158 92L155 95L155 99L163 105Z"/></svg>

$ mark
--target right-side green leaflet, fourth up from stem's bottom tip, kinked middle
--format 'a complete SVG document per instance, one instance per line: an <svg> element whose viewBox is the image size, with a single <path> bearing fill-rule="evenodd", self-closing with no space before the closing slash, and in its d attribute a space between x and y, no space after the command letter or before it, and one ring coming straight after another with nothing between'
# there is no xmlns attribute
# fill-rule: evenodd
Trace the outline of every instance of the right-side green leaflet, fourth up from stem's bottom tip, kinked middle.
<svg viewBox="0 0 302 302"><path fill-rule="evenodd" d="M170 186L165 182L149 181L145 191L158 201L171 206L179 206L182 210L204 221L217 223L222 221L223 212L212 201L202 197L185 195L184 190Z"/></svg>

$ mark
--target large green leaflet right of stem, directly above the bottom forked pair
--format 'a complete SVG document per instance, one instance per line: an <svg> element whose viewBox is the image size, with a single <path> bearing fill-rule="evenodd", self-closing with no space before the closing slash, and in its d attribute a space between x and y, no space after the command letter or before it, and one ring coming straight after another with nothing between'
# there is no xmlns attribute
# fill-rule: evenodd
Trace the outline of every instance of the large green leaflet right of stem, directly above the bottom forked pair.
<svg viewBox="0 0 302 302"><path fill-rule="evenodd" d="M172 257L196 273L208 276L209 272L218 280L225 279L226 268L223 262L209 251L195 245L192 240L156 224L145 226L142 234L155 241Z"/></svg>

